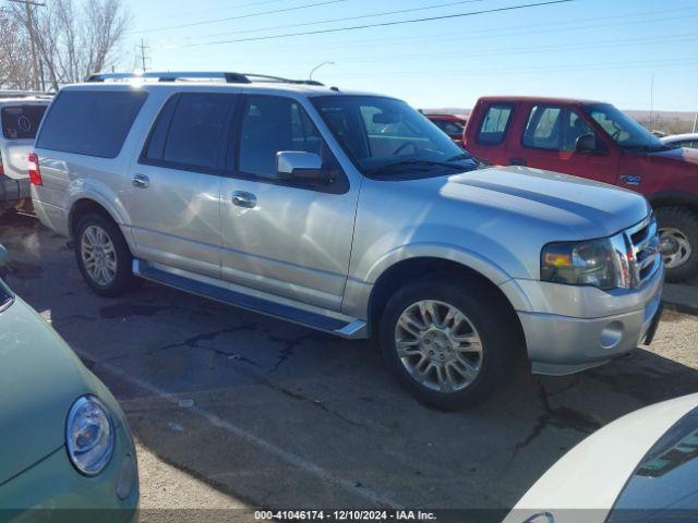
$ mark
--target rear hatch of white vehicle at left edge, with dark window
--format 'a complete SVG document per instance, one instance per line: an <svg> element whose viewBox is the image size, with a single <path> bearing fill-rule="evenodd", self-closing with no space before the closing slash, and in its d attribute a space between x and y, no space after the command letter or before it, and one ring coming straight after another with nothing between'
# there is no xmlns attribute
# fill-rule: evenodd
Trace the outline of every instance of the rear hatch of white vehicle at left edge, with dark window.
<svg viewBox="0 0 698 523"><path fill-rule="evenodd" d="M27 155L34 147L48 102L7 104L0 108L0 158L8 178L28 178Z"/></svg>

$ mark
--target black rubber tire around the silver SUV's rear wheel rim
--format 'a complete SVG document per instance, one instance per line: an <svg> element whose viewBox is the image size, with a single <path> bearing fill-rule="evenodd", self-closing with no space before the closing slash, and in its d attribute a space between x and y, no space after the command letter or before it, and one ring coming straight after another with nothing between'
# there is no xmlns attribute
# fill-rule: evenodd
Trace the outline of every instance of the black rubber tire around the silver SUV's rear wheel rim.
<svg viewBox="0 0 698 523"><path fill-rule="evenodd" d="M116 256L116 271L113 278L108 283L99 283L87 271L82 255L82 243L85 231L91 227L101 229L111 241ZM121 229L111 218L101 214L88 214L83 216L75 228L75 259L80 272L83 275L85 282L98 295L105 297L121 296L133 291L140 283L140 279L133 275L133 256L129 250Z"/></svg>

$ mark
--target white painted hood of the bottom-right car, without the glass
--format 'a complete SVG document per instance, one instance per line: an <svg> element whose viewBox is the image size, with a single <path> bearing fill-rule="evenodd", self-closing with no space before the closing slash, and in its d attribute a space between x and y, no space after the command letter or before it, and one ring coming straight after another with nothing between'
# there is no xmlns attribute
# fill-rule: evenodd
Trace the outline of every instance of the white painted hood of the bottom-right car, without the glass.
<svg viewBox="0 0 698 523"><path fill-rule="evenodd" d="M696 406L698 394L686 396L635 411L606 425L557 461L504 522L603 523L642 458ZM541 515L535 519L535 514Z"/></svg>

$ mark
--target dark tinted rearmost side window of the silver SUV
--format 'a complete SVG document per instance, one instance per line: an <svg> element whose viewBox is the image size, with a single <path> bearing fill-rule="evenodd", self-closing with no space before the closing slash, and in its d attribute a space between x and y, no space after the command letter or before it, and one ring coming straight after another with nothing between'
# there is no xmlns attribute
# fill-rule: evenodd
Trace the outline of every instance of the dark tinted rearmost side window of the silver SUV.
<svg viewBox="0 0 698 523"><path fill-rule="evenodd" d="M67 90L46 117L37 147L116 158L147 94L141 90Z"/></svg>

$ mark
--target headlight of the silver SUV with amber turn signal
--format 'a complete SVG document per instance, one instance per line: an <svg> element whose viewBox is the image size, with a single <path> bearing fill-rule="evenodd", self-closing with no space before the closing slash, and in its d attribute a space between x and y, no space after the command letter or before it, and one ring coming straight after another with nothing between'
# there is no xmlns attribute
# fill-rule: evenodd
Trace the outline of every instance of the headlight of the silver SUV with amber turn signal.
<svg viewBox="0 0 698 523"><path fill-rule="evenodd" d="M627 253L623 234L549 243L541 253L541 280L603 290L630 289L633 278Z"/></svg>

